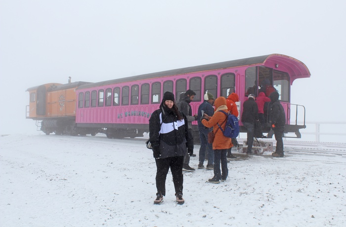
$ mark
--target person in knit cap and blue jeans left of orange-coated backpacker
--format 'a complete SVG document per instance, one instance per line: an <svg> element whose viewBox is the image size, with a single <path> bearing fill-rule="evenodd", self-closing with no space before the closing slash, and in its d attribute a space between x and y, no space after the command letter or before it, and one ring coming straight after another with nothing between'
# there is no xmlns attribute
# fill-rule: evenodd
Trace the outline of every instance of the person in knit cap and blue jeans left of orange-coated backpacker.
<svg viewBox="0 0 346 227"><path fill-rule="evenodd" d="M208 164L206 166L207 169L214 169L214 151L212 144L208 143L208 133L211 132L212 128L207 128L204 126L201 122L202 111L204 111L204 114L207 114L209 116L214 115L214 96L211 93L206 93L204 95L204 102L199 106L198 108L198 116L197 116L197 123L198 123L198 133L199 133L199 140L201 142L201 147L199 149L199 164L198 168L203 169L204 168L204 160L206 158L206 150L208 147Z"/></svg>

